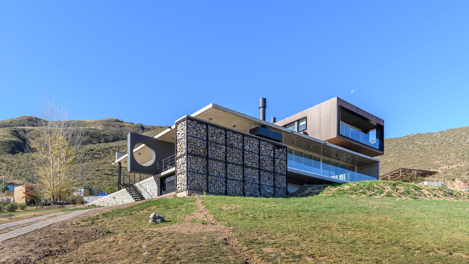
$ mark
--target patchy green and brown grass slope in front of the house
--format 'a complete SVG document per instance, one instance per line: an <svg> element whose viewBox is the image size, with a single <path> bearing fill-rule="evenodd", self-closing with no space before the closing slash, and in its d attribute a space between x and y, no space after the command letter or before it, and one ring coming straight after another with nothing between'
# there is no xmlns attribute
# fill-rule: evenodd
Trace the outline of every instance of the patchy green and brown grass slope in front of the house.
<svg viewBox="0 0 469 264"><path fill-rule="evenodd" d="M468 217L461 201L173 197L56 227L63 249L40 263L467 263ZM83 229L107 235L66 237Z"/></svg>

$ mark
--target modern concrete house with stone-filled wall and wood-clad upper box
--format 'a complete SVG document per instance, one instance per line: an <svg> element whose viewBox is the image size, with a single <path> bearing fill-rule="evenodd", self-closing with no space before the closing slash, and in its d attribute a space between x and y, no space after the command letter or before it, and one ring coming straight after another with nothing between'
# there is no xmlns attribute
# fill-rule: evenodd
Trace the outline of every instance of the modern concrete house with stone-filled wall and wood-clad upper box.
<svg viewBox="0 0 469 264"><path fill-rule="evenodd" d="M337 97L280 121L266 121L265 108L261 98L256 118L210 104L157 136L129 133L128 153L113 162L120 190L97 204L169 193L286 197L303 184L379 179L382 119Z"/></svg>

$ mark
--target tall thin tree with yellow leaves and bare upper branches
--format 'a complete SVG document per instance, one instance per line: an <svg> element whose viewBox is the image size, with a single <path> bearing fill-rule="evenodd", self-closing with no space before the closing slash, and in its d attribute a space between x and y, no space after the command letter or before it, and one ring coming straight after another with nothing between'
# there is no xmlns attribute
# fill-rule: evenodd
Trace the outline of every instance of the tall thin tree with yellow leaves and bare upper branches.
<svg viewBox="0 0 469 264"><path fill-rule="evenodd" d="M78 121L68 121L65 108L47 97L38 117L36 127L25 133L26 150L31 153L31 170L39 189L55 201L69 195L86 170L85 160L77 156L85 140L84 129Z"/></svg>

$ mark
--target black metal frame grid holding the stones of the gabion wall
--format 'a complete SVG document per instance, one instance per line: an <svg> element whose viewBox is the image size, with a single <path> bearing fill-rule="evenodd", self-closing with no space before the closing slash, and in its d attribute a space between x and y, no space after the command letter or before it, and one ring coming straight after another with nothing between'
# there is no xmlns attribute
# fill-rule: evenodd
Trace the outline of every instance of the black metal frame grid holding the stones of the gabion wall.
<svg viewBox="0 0 469 264"><path fill-rule="evenodd" d="M184 119L178 121L176 123L176 128L174 129L175 130L175 144L174 144L174 148L175 148L175 153L177 153L177 125L183 121L186 121L186 126L185 126L185 137L186 137L186 146L185 146L185 153L184 154L181 154L180 156L176 157L177 158L180 158L184 155L186 155L186 170L185 170L185 173L186 173L186 188L185 190L193 190L193 191L201 191L199 189L190 189L189 188L189 181L188 181L188 177L189 177L189 173L197 173L197 174L204 174L204 173L200 173L200 172L194 172L194 171L189 171L189 155L191 156L194 156L194 157L199 157L199 158L205 158L206 160L206 187L205 187L205 191L207 193L214 193L214 194L219 194L217 192L210 192L209 191L209 186L210 186L210 181L209 181L209 176L212 176L212 177L219 177L219 178L224 178L225 179L225 195L228 195L228 180L231 180L231 181L240 181L240 180L237 180L237 179L231 179L231 178L228 178L228 164L233 164L233 165L237 165L237 166L242 166L242 195L243 196L246 196L246 183L249 183L249 182L246 182L246 178L245 178L245 169L246 168L252 168L252 169L256 169L257 170L257 173L258 173L258 183L255 183L255 184L258 184L259 185L259 195L262 196L262 185L264 186L269 186L269 187L273 187L273 196L276 196L276 191L277 189L284 189L285 190L285 195L287 195L287 188L283 188L283 187L280 187L280 186L276 186L275 184L275 178L276 178L276 174L279 174L279 175L283 175L285 176L285 180L287 181L287 160L286 159L281 159L281 160L284 160L285 161L285 174L284 173L277 173L275 171L275 160L276 159L280 159L280 158L276 158L276 147L279 147L279 148L283 148L285 149L285 152L287 151L287 146L285 145L282 145L282 144L279 144L279 143L274 143L274 142L271 142L271 141L268 141L268 140L265 140L265 139L262 139L260 137L257 137L257 136L253 136L253 135L247 135L245 133L242 133L241 131L236 131L236 130L233 130L233 129L229 129L229 128L225 128L225 127L221 127L221 126L218 126L216 124L213 124L213 123L210 123L210 122L207 122L207 121L202 121L202 120L198 120L198 119L195 119L195 118L190 118L188 116L186 116ZM197 122L199 124L203 124L205 126L205 136L206 138L203 139L203 138L200 138L200 137L197 137L197 136L190 136L190 137L194 137L194 138L198 138L198 139L201 139L201 140L204 140L206 142L206 153L205 153L205 156L201 156L201 155L197 155L197 154L193 154L193 153L189 153L188 151L188 138L189 138L189 121L194 121L194 122ZM221 130L223 130L225 132L225 144L222 144L222 143L218 143L218 142L214 142L214 141L211 141L209 140L209 136L208 136L208 133L209 133L209 127L212 126L214 128L219 128ZM227 159L227 155L228 155L228 148L233 148L233 149L239 149L239 148L236 148L236 147L233 147L233 146L228 146L228 131L232 132L232 133L235 133L237 135L241 135L242 136L242 164L238 164L238 163L234 163L234 162L229 162L228 159ZM252 137L254 139L257 139L258 140L258 152L253 152L253 151L248 151L248 150L245 150L245 143L244 143L244 139L245 139L245 136L249 136L249 137ZM268 156L268 155L264 155L264 154L261 154L261 151L260 151L260 148L261 148L261 142L264 141L264 142L267 142L267 143L270 143L270 144L273 144L273 157L271 156ZM212 143L216 143L216 144L219 144L221 146L224 146L225 148L225 160L220 160L220 159L217 159L217 158L211 158L209 157L209 143L212 142ZM252 166L246 166L245 165L245 153L244 151L247 151L247 152L252 152L252 153L256 153L258 156L258 168L255 168L255 167L252 167ZM272 161L273 161L273 169L272 171L269 171L269 170L264 170L261 168L261 156L268 156L269 158L272 158ZM285 156L286 156L286 153L285 153ZM223 162L225 164L225 176L219 176L219 175L212 175L209 173L209 161L210 160L214 160L214 161L219 161L219 162ZM177 166L176 166L176 170L177 170ZM265 185L265 184L262 184L261 183L261 171L265 171L265 172L268 172L268 173L272 173L272 176L273 176L273 185ZM176 182L175 182L175 189L177 190L177 171L175 171L175 175L176 175ZM181 191L181 190L179 190Z"/></svg>

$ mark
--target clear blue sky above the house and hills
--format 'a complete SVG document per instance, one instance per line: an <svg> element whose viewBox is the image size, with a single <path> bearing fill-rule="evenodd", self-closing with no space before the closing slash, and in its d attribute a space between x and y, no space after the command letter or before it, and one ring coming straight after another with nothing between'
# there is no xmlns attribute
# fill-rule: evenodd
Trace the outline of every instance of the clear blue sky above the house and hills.
<svg viewBox="0 0 469 264"><path fill-rule="evenodd" d="M338 96L385 137L469 126L468 1L2 1L0 120L282 119ZM354 91L351 93L351 91Z"/></svg>

